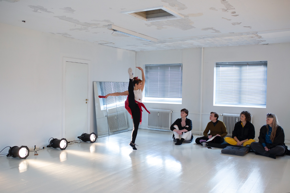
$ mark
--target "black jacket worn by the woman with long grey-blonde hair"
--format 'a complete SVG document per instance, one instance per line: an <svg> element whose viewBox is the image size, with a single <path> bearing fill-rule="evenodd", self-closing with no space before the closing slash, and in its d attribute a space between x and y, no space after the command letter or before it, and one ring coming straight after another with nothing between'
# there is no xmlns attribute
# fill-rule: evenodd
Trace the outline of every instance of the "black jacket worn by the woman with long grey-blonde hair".
<svg viewBox="0 0 290 193"><path fill-rule="evenodd" d="M266 133L267 133L267 127L266 125L263 125L260 129L260 135L259 135L259 143L266 143L265 142L265 139L266 139ZM284 135L284 131L283 131L283 128L281 126L277 127L277 130L276 130L276 137L274 139L274 141L272 141L272 144L267 144L267 148L273 148L273 147L276 147L276 146L285 146L285 143L284 143L284 138L285 138L285 135Z"/></svg>

